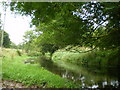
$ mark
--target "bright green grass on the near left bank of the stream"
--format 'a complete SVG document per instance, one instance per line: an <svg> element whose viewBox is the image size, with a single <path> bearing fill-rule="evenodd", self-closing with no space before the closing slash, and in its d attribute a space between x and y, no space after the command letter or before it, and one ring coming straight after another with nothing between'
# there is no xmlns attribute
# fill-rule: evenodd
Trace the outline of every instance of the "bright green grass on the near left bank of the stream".
<svg viewBox="0 0 120 90"><path fill-rule="evenodd" d="M75 85L72 81L63 79L40 67L38 64L24 64L24 60L31 57L26 55L18 56L11 50L8 52L9 54L6 53L8 56L2 59L3 80L14 80L28 87L31 85L45 88L79 87L79 85ZM10 55L12 52L14 52L14 56Z"/></svg>

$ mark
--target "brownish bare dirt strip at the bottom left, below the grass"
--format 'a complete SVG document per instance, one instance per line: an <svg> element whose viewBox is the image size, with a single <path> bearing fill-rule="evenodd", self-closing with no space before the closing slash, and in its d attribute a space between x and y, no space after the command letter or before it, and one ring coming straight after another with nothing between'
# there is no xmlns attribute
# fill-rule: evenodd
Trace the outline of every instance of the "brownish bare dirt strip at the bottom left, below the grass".
<svg viewBox="0 0 120 90"><path fill-rule="evenodd" d="M12 80L2 80L2 82L0 82L0 85L2 88L38 88L37 86L28 87L22 83L18 83Z"/></svg>

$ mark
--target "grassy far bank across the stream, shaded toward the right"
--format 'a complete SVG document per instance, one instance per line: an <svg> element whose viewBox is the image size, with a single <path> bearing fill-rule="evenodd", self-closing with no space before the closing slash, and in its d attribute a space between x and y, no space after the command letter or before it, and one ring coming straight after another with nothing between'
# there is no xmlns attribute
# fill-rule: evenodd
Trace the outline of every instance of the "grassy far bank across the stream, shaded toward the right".
<svg viewBox="0 0 120 90"><path fill-rule="evenodd" d="M84 50L85 51L85 50ZM84 53L59 50L53 54L54 62L64 61L90 67L119 67L118 50L93 50Z"/></svg>

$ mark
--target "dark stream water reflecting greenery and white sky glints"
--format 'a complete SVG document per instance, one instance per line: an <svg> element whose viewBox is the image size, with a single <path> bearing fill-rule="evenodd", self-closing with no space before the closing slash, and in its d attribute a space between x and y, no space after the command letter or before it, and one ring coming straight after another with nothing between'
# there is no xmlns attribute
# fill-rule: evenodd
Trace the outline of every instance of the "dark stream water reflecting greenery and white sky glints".
<svg viewBox="0 0 120 90"><path fill-rule="evenodd" d="M59 62L42 61L47 70L82 85L82 88L119 88L120 70L118 68L88 68Z"/></svg>

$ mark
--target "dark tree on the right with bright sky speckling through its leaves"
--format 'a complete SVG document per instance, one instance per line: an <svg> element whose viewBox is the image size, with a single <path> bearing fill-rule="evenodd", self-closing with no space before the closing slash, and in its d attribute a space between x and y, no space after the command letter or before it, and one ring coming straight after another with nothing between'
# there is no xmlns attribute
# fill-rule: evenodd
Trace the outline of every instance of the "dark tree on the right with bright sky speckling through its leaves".
<svg viewBox="0 0 120 90"><path fill-rule="evenodd" d="M92 2L84 4L74 13L89 26L86 34L88 40L94 41L92 45L113 49L120 46L119 9L119 3Z"/></svg>

